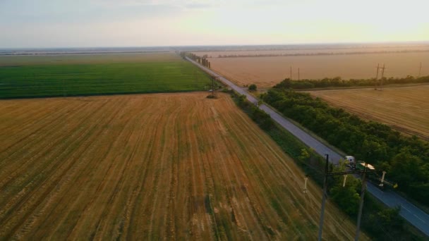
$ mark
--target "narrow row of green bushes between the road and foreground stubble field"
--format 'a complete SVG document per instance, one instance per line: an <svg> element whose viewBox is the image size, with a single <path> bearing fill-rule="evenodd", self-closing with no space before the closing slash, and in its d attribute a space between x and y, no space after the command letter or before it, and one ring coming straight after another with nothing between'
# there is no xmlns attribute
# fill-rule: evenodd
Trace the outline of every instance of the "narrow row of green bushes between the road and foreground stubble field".
<svg viewBox="0 0 429 241"><path fill-rule="evenodd" d="M310 175L315 175L316 183L322 184L322 180L317 175L324 170L324 159L308 149L303 143L296 140L289 132L280 129L274 124L272 118L255 105L246 100L246 96L231 92L231 96L236 100L238 106L245 111L250 118L258 123L265 130L267 135L279 144L284 152L289 154L303 168L303 171ZM340 166L331 166L333 171L344 171L344 163ZM332 177L329 180L329 197L340 209L351 218L356 218L358 212L359 193L361 190L361 180L352 175L347 178L346 186L342 186L341 176ZM375 240L418 240L406 227L404 219L399 216L399 208L385 208L378 204L375 199L365 196L365 207L363 208L362 228Z"/></svg>

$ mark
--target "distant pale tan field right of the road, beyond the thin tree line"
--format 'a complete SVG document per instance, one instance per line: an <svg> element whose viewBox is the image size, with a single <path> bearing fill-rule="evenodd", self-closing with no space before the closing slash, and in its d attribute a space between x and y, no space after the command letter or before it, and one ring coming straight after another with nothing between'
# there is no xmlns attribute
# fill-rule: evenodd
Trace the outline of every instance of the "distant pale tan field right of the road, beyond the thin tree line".
<svg viewBox="0 0 429 241"><path fill-rule="evenodd" d="M256 52L256 51L254 51ZM226 54L224 52L223 54ZM217 57L217 56L216 56ZM285 78L322 79L340 76L343 79L375 78L377 63L385 63L385 77L429 75L429 52L389 54L339 54L321 56L265 56L208 58L212 70L238 85L255 84L268 88ZM380 73L381 74L381 73Z"/></svg>

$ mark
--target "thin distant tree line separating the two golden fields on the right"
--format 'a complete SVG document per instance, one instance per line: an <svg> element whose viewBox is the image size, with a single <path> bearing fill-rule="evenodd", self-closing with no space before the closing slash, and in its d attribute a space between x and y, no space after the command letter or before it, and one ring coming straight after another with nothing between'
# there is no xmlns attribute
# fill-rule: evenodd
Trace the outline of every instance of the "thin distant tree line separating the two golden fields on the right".
<svg viewBox="0 0 429 241"><path fill-rule="evenodd" d="M408 75L406 78L384 78L383 84L408 84L408 83L423 83L429 82L429 76L415 78ZM313 89L326 87L356 87L356 86L376 86L380 84L380 80L372 79L351 79L342 80L340 77L324 78L321 80L291 80L289 78L279 82L275 88L281 89Z"/></svg>

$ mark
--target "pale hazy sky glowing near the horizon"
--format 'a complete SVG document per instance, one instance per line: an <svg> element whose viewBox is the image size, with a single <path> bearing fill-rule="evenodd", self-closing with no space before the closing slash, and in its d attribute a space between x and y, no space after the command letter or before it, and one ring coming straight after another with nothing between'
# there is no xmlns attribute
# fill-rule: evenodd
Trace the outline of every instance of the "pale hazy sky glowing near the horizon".
<svg viewBox="0 0 429 241"><path fill-rule="evenodd" d="M428 0L0 0L0 48L429 41Z"/></svg>

